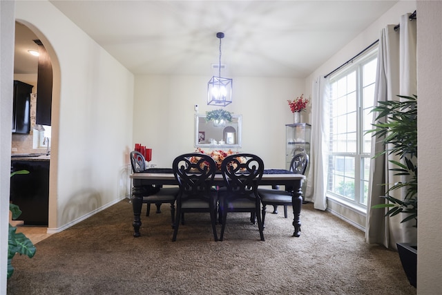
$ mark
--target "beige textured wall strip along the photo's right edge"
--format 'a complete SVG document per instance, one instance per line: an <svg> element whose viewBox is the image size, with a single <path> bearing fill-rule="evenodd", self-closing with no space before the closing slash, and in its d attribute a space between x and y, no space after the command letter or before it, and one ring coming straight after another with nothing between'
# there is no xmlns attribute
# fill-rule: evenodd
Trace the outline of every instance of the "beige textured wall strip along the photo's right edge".
<svg viewBox="0 0 442 295"><path fill-rule="evenodd" d="M418 1L418 294L442 290L442 2Z"/></svg>

